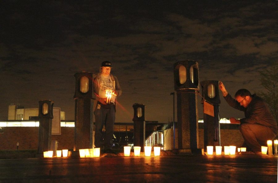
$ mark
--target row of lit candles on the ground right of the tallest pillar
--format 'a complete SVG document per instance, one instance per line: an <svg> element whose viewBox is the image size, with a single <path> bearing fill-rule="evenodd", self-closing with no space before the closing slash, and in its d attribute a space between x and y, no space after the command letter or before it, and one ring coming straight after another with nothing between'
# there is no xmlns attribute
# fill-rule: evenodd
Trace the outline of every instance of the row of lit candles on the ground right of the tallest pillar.
<svg viewBox="0 0 278 183"><path fill-rule="evenodd" d="M267 140L267 147L261 147L262 154L267 154L272 156L272 140ZM278 140L274 140L274 151L275 156L278 155ZM245 147L238 148L238 152L246 152ZM236 146L224 146L224 155L235 155L236 153ZM207 146L207 154L213 155L213 146ZM222 154L222 146L215 146L215 154L221 155Z"/></svg>

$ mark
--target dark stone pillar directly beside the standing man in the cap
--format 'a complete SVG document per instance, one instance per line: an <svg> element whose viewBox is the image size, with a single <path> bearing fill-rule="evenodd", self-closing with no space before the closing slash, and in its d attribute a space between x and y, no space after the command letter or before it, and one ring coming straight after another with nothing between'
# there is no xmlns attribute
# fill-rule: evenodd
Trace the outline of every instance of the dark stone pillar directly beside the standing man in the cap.
<svg viewBox="0 0 278 183"><path fill-rule="evenodd" d="M93 148L94 76L91 72L79 72L74 75L74 151Z"/></svg>

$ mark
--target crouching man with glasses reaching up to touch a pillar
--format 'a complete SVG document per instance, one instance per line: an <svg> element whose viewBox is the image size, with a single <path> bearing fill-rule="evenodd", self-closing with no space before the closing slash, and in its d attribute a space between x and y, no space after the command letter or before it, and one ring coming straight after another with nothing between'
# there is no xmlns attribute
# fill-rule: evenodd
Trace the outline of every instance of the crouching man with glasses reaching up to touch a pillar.
<svg viewBox="0 0 278 183"><path fill-rule="evenodd" d="M261 146L267 146L267 140L273 140L277 135L277 122L267 104L246 89L238 90L234 95L235 99L230 96L222 82L219 83L219 89L231 107L244 112L245 118L230 118L231 123L240 124L239 131L244 139L242 146L260 154Z"/></svg>

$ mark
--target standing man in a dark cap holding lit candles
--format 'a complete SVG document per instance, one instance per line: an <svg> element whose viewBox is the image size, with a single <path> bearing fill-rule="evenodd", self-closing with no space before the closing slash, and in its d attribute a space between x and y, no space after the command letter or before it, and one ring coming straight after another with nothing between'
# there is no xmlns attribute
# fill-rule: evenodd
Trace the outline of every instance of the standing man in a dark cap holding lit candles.
<svg viewBox="0 0 278 183"><path fill-rule="evenodd" d="M100 148L102 128L105 125L104 152L113 153L112 138L114 135L114 122L117 96L122 90L116 76L110 74L111 62L101 63L99 74L94 78L95 105L95 147ZM109 95L111 94L111 95Z"/></svg>

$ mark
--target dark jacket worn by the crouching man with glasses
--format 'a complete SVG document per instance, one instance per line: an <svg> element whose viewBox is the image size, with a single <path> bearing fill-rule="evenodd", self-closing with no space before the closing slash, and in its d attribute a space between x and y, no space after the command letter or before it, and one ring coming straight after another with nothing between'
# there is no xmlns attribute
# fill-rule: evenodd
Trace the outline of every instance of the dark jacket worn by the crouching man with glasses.
<svg viewBox="0 0 278 183"><path fill-rule="evenodd" d="M224 98L231 107L244 112L245 118L242 118L240 123L257 123L268 126L277 135L277 122L274 120L267 104L256 94L253 94L251 97L252 100L247 108L241 106L230 94Z"/></svg>

